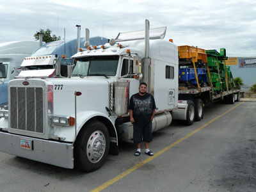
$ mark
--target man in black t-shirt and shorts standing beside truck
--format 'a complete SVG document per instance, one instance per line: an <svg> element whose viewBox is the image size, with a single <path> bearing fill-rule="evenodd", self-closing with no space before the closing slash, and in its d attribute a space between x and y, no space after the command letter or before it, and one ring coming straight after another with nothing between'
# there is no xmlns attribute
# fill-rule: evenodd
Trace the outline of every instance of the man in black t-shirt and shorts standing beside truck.
<svg viewBox="0 0 256 192"><path fill-rule="evenodd" d="M142 141L145 144L145 154L154 156L148 148L148 143L152 141L152 120L156 111L156 103L154 97L147 93L146 83L141 83L139 92L132 95L129 109L130 121L133 124L133 140L137 145L134 156L140 156Z"/></svg>

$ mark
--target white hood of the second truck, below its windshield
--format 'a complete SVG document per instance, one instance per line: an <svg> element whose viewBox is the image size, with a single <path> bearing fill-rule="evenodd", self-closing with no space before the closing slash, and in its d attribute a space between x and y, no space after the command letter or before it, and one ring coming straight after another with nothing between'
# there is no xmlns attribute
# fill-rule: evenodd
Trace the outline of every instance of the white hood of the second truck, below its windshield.
<svg viewBox="0 0 256 192"><path fill-rule="evenodd" d="M22 70L15 78L23 77L52 77L55 73L55 68L42 69L42 70Z"/></svg>

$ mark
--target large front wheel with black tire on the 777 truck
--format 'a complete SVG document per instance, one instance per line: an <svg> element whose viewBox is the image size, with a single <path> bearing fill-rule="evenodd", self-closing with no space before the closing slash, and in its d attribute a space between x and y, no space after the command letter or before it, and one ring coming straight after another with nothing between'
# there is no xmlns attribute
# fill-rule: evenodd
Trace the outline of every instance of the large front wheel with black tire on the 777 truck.
<svg viewBox="0 0 256 192"><path fill-rule="evenodd" d="M74 148L75 167L83 172L99 169L109 151L109 132L102 122L90 122L77 136Z"/></svg>

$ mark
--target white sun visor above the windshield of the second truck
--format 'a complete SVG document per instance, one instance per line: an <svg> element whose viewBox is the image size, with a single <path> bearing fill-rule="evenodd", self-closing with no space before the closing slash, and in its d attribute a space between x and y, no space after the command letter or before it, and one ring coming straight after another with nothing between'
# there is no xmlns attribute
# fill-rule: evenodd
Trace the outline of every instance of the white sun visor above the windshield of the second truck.
<svg viewBox="0 0 256 192"><path fill-rule="evenodd" d="M21 67L33 66L33 65L53 65L55 56L47 55L47 56L31 56L24 58L21 63Z"/></svg>

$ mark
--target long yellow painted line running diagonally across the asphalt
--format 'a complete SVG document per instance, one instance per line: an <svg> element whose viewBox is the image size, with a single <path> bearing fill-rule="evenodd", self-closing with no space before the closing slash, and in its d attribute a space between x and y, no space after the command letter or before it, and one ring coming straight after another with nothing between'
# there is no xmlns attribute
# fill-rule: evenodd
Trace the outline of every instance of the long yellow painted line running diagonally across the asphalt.
<svg viewBox="0 0 256 192"><path fill-rule="evenodd" d="M211 121L209 121L206 124L202 125L202 127L199 127L198 129L195 129L195 131L193 131L193 132L187 134L186 136L184 136L184 138L181 138L180 140L175 141L174 143L172 143L168 147L163 148L162 150L160 150L159 152L154 154L154 156L148 157L144 161L141 161L141 163L138 163L138 164L134 165L132 168L129 168L129 170L126 170L125 172L120 173L119 175L117 175L113 179L111 179L111 180L105 182L104 184L102 184L101 186L93 189L91 192L99 192L99 191L102 191L105 188L108 188L108 186L111 186L111 184L114 184L116 181L122 179L123 177L125 177L129 173L134 172L135 170L137 170L138 168L140 168L144 164L148 163L149 161L152 161L152 159L155 159L156 157L160 156L161 154L166 152L166 150L169 150L170 148L174 147L175 145L179 144L180 142L188 139L190 136L193 136L193 134L195 134L196 132L200 131L201 129L204 129L204 127L206 127L207 125L209 125L212 122L216 121L221 116L226 115L227 113L229 113L230 111L232 111L233 109L237 108L238 106L240 106L243 103L244 102L241 102L241 103L237 104L236 106L234 106L233 108L228 109L225 113L222 113L221 115L217 116L216 118L213 118Z"/></svg>

